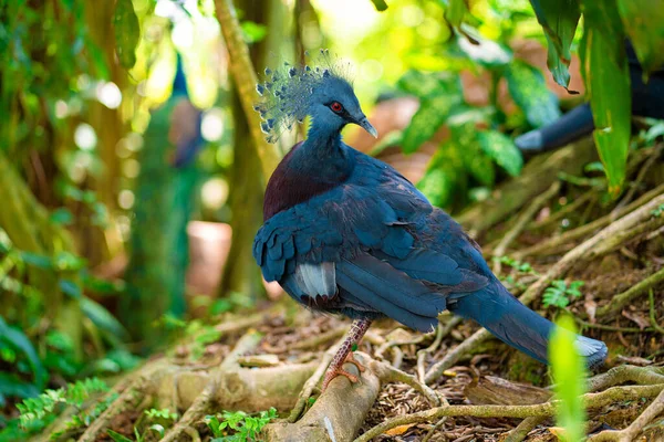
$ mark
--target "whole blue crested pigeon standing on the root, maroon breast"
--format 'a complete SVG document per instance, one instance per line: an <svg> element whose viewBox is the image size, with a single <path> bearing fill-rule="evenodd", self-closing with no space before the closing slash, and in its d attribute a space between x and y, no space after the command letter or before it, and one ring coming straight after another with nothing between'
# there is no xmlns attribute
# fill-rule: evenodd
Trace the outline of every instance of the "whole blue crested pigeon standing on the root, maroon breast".
<svg viewBox="0 0 664 442"><path fill-rule="evenodd" d="M385 316L426 333L449 309L547 362L554 325L502 286L479 246L448 214L395 169L341 140L347 124L377 133L343 69L330 63L326 52L323 61L324 69L267 70L267 84L257 87L263 101L256 110L268 140L305 116L311 126L269 180L264 224L253 243L267 281L277 281L309 308L354 319L323 389L338 375L356 381L341 367L357 365L352 346L373 319ZM575 343L590 366L606 357L602 341L578 336Z"/></svg>

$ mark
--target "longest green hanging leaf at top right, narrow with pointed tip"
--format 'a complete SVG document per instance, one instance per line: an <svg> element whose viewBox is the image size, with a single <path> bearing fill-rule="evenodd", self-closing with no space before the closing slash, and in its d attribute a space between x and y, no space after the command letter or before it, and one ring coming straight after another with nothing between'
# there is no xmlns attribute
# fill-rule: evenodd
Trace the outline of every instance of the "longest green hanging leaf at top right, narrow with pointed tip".
<svg viewBox="0 0 664 442"><path fill-rule="evenodd" d="M624 33L615 0L598 0L584 7L581 61L595 125L593 135L609 193L616 198L625 179L632 114Z"/></svg>

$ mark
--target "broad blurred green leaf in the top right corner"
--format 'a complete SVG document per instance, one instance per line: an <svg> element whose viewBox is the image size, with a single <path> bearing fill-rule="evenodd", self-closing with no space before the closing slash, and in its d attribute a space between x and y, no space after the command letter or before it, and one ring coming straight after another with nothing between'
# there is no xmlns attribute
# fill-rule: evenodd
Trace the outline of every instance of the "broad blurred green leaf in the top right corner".
<svg viewBox="0 0 664 442"><path fill-rule="evenodd" d="M647 77L664 65L664 2L618 0L618 11Z"/></svg>

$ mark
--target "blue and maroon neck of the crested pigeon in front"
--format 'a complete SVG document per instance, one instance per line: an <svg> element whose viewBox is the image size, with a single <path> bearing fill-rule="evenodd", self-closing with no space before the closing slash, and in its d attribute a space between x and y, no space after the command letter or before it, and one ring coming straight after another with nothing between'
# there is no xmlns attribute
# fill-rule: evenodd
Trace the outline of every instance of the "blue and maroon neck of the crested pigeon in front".
<svg viewBox="0 0 664 442"><path fill-rule="evenodd" d="M354 167L354 156L336 134L317 134L297 144L277 166L266 189L263 218L309 201L344 182Z"/></svg>

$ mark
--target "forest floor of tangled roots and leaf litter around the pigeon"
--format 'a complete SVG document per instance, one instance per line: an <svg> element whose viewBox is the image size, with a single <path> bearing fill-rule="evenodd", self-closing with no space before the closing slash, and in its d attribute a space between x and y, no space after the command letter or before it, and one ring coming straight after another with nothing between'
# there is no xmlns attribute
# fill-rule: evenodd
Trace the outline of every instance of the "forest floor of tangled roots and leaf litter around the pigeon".
<svg viewBox="0 0 664 442"><path fill-rule="evenodd" d="M631 185L618 201L604 198L599 180L567 168L570 158L593 155L584 149L531 161L499 188L499 198L522 200L509 213L479 203L459 219L523 303L550 318L571 312L583 335L609 346L605 366L589 381L591 440L664 440L664 146L632 156ZM553 305L544 308L549 287ZM369 368L360 382L340 377L319 396L349 325L287 297L228 314L211 328L212 339L184 339L121 379L112 392L117 399L69 436L106 441L111 429L133 438L143 410L158 407L180 414L163 439L148 432L146 441L208 441L224 432L212 434L206 415L274 407L284 420L258 440L558 440L547 367L449 315L428 335L376 322L357 348Z"/></svg>

